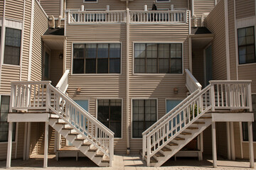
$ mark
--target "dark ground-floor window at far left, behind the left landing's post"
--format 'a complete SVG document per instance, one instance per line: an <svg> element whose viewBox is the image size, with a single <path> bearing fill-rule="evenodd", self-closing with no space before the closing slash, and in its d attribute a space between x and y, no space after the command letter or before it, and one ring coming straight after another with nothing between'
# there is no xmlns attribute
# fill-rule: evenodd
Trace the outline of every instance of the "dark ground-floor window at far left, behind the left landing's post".
<svg viewBox="0 0 256 170"><path fill-rule="evenodd" d="M8 142L8 130L9 123L7 122L7 115L9 113L10 96L1 96L1 108L0 108L0 142ZM13 137L15 141L16 123L13 126Z"/></svg>

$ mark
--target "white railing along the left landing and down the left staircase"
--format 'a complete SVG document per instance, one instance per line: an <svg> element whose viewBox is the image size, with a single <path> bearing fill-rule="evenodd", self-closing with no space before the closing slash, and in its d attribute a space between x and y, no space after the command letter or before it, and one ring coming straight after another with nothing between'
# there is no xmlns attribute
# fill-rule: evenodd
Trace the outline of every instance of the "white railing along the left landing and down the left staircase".
<svg viewBox="0 0 256 170"><path fill-rule="evenodd" d="M52 111L97 149L106 154L110 158L110 166L112 165L114 132L62 91L53 87L50 81L12 82L10 111L21 109Z"/></svg>

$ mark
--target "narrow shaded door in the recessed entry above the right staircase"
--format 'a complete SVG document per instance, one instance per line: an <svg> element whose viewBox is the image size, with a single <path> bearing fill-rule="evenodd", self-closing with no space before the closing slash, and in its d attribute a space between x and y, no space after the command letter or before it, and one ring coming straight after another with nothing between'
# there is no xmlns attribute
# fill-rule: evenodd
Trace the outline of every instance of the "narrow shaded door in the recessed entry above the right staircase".
<svg viewBox="0 0 256 170"><path fill-rule="evenodd" d="M206 69L205 69L205 85L209 84L209 81L213 79L213 65L212 65L212 45L206 47Z"/></svg>

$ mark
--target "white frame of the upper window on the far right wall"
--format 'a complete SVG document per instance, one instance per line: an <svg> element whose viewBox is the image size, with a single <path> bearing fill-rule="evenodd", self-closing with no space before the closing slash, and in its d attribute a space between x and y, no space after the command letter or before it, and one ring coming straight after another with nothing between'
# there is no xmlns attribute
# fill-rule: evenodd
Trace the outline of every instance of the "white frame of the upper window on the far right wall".
<svg viewBox="0 0 256 170"><path fill-rule="evenodd" d="M254 46L254 55L255 55L255 62L245 62L245 63L240 63L240 56L239 56L239 48L240 47L247 47L247 46L250 46L250 45L252 45L252 44L246 44L246 45L239 45L238 44L238 40L239 40L239 37L238 37L238 30L240 30L240 29L246 29L246 28L253 28L252 30L253 30L253 35L254 35L254 44L253 44L253 46ZM255 49L255 43L256 43L256 36L255 36L255 32L256 32L256 26L254 26L254 25L252 25L252 26L244 26L244 27L240 27L240 28L236 28L236 38L237 38L237 40L236 40L236 43L238 44L237 45L237 52L238 52L238 65L245 65L245 64L255 64L256 63L256 49ZM246 38L246 35L245 35L245 38ZM246 56L245 56L246 57ZM246 60L246 58L245 58L245 60Z"/></svg>

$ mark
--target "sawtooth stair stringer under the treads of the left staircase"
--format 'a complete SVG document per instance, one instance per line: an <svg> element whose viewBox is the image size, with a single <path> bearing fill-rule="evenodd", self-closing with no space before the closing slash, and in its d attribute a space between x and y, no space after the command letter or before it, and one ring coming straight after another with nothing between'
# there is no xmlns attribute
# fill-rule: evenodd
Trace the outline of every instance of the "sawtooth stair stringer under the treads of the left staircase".
<svg viewBox="0 0 256 170"><path fill-rule="evenodd" d="M89 152L88 150L90 149L90 146L82 146L82 144L85 141L77 141L75 140L75 136L73 135L68 135L67 130L63 130L65 125L57 125L55 123L57 123L58 120L55 119L50 119L49 121L49 125L56 130L57 132L60 133L60 135L62 135L63 137L65 137L66 140L68 140L68 142L70 142L72 145L74 145L75 147L77 147L80 152L82 152L82 154L85 154L86 157L88 157L89 159L92 160L92 162L94 162L95 164L97 164L97 166L110 166L109 162L102 162L102 157L95 157L97 152ZM75 129L73 129L75 130ZM77 131L77 130L75 130Z"/></svg>

